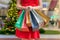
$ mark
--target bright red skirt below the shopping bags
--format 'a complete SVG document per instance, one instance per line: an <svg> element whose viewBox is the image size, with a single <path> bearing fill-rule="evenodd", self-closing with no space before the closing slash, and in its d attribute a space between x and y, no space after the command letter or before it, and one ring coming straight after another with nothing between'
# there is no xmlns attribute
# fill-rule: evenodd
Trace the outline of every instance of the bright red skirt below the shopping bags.
<svg viewBox="0 0 60 40"><path fill-rule="evenodd" d="M18 29L16 29L16 36L18 38L26 38L26 39L29 39L29 38L40 38L40 33L39 31L32 31L32 28L29 28L29 32L23 32L23 31L20 31Z"/></svg>

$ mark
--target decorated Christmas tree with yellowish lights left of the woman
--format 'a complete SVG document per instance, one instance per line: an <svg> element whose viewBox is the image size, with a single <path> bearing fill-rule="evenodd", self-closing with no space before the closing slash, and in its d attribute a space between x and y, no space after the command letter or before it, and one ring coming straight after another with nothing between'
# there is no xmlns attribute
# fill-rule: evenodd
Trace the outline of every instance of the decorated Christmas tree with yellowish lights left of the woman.
<svg viewBox="0 0 60 40"><path fill-rule="evenodd" d="M9 10L7 13L7 19L5 20L5 26L2 29L4 34L14 34L15 33L15 23L17 21L17 12L18 9L16 8L16 0L10 1Z"/></svg>

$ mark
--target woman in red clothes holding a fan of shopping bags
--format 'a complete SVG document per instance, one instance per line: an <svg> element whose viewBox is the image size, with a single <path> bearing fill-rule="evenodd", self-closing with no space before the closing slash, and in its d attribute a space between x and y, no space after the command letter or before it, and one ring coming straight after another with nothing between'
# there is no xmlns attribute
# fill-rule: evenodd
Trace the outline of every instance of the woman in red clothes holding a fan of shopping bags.
<svg viewBox="0 0 60 40"><path fill-rule="evenodd" d="M17 7L21 9L41 9L41 0L17 0ZM21 12L21 11L20 11ZM20 12L18 15L20 15ZM29 27L29 32L23 32L16 28L16 36L21 38L21 40L39 40L39 31L32 31L32 27Z"/></svg>

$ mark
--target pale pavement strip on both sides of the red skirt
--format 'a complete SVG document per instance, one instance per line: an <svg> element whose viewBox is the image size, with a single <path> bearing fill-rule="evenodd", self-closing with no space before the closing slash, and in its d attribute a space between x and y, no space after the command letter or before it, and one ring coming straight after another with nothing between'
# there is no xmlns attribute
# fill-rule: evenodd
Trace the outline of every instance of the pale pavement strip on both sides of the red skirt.
<svg viewBox="0 0 60 40"><path fill-rule="evenodd" d="M60 40L60 35L40 35L40 40ZM0 35L0 40L20 40L15 35Z"/></svg>

